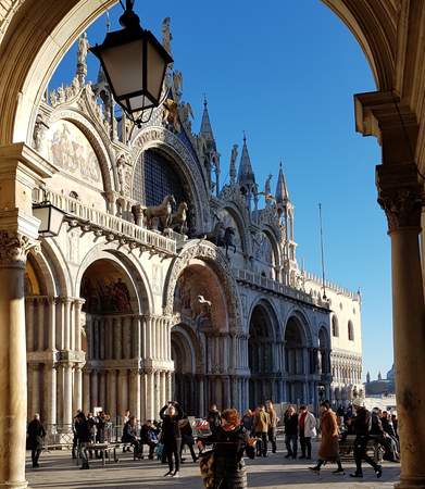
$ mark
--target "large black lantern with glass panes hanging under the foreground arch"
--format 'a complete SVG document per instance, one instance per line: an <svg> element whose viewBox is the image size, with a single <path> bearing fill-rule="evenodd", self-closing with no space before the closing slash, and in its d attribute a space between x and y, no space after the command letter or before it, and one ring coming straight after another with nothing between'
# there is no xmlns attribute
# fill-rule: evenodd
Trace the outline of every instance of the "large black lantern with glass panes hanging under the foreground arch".
<svg viewBox="0 0 425 489"><path fill-rule="evenodd" d="M173 59L150 30L141 28L133 5L134 0L126 0L120 17L123 29L108 33L103 43L90 51L99 58L116 103L135 121L135 112L160 104L165 71Z"/></svg>

